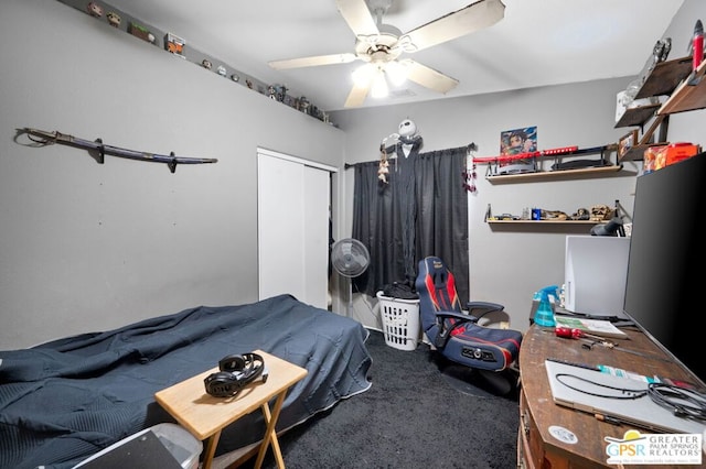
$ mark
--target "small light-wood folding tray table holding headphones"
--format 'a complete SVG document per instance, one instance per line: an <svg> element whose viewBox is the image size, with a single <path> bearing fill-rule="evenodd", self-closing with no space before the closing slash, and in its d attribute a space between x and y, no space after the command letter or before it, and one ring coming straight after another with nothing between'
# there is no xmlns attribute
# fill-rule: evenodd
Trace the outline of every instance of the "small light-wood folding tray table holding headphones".
<svg viewBox="0 0 706 469"><path fill-rule="evenodd" d="M221 430L257 407L263 411L267 430L260 444L255 467L259 468L261 466L269 445L272 446L277 467L285 467L275 425L285 402L287 390L303 379L307 375L307 370L261 350L255 350L255 353L260 355L265 360L265 366L269 371L267 382L256 381L250 383L235 397L214 397L206 393L203 380L208 374L218 371L217 367L154 394L157 402L176 422L189 429L196 438L201 440L208 439L203 459L203 469L211 468ZM270 412L268 402L275 396L277 396L277 400Z"/></svg>

